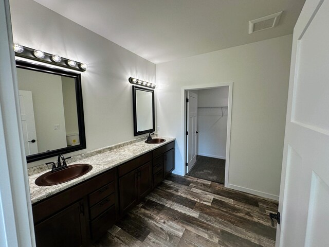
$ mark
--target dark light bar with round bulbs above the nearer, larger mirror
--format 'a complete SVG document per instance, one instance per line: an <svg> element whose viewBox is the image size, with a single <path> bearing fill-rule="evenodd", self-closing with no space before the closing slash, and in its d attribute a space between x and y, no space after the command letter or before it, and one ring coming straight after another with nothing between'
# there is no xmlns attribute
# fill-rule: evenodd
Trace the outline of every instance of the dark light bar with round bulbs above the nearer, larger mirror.
<svg viewBox="0 0 329 247"><path fill-rule="evenodd" d="M19 45L19 44L15 44L15 45L17 47L17 45ZM43 52L41 50L38 50L38 51L43 52L44 56L42 58L41 57L38 58L38 57L36 57L36 55L34 53L34 51L36 51L35 49L29 48L26 46L22 46L22 47L23 47L23 51L21 51L21 49L20 49L21 52L17 52L15 50L15 56L22 57L22 58L28 58L28 59L32 59L35 61L48 63L48 64L52 64L52 65L57 65L57 66L65 67L65 68L69 68L69 69L75 69L75 70L79 70L81 72L84 72L87 69L87 66L85 63L81 63L81 62L77 62L77 61L74 61L71 59L63 58L56 54L54 54L54 55L49 54L49 53ZM39 54L40 54L40 52L39 52ZM68 61L73 61L75 63L68 62ZM74 65L74 66L72 66L72 65ZM86 68L86 69L83 69L83 68Z"/></svg>

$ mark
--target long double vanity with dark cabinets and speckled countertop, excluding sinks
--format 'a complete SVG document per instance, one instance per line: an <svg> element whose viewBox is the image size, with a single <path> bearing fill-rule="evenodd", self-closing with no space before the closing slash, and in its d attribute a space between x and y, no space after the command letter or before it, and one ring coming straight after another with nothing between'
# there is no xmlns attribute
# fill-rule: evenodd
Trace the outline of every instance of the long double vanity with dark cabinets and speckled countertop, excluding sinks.
<svg viewBox="0 0 329 247"><path fill-rule="evenodd" d="M35 179L45 171L31 174L36 245L88 246L106 233L174 170L174 138L164 139L159 144L143 139L72 157L68 167L93 168L65 183L38 186Z"/></svg>

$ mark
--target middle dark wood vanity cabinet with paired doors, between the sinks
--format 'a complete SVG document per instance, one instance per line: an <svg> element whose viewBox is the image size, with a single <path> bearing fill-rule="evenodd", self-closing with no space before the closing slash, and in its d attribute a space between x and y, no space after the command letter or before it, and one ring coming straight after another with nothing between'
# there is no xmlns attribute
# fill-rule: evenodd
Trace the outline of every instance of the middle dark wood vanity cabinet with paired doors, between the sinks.
<svg viewBox="0 0 329 247"><path fill-rule="evenodd" d="M125 214L152 189L152 153L119 166L120 213Z"/></svg>

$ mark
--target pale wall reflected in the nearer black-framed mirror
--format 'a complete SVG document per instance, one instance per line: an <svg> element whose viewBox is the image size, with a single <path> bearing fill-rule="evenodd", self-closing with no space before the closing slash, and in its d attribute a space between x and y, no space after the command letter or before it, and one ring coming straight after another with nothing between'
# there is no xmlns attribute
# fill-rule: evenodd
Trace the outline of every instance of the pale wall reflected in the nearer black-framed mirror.
<svg viewBox="0 0 329 247"><path fill-rule="evenodd" d="M19 89L32 92L38 151L66 147L61 76L18 68ZM54 129L59 125L60 129Z"/></svg>

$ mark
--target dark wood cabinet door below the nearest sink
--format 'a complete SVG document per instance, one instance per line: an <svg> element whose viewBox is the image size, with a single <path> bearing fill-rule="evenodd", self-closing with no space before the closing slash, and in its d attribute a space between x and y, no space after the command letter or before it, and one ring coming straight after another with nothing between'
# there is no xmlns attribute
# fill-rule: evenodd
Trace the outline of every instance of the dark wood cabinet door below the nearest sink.
<svg viewBox="0 0 329 247"><path fill-rule="evenodd" d="M37 247L80 247L86 237L83 200L34 226Z"/></svg>

